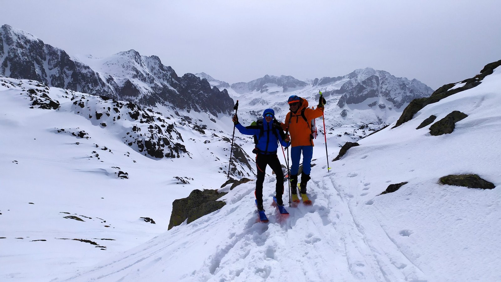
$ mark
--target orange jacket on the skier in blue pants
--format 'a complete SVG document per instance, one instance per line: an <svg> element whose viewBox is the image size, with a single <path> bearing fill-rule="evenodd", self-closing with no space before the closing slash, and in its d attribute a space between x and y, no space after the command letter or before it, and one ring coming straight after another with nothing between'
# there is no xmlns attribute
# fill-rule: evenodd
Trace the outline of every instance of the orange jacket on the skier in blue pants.
<svg viewBox="0 0 501 282"><path fill-rule="evenodd" d="M305 109L305 117L308 122L301 116L301 111ZM313 139L310 137L311 122L312 119L322 116L324 113L324 107L317 107L316 109L308 108L308 101L301 98L301 105L296 113L292 111L288 112L285 117L285 123L280 125L284 130L289 127L289 133L291 133L291 143L292 147L296 146L314 146Z"/></svg>

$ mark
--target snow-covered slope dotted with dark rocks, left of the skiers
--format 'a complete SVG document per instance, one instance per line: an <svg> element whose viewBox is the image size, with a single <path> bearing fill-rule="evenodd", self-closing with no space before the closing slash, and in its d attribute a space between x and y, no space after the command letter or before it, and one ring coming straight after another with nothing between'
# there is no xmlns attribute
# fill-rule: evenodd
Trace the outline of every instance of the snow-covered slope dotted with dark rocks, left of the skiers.
<svg viewBox="0 0 501 282"><path fill-rule="evenodd" d="M232 123L192 117L0 78L0 280L74 273L164 232L173 200L219 188Z"/></svg>

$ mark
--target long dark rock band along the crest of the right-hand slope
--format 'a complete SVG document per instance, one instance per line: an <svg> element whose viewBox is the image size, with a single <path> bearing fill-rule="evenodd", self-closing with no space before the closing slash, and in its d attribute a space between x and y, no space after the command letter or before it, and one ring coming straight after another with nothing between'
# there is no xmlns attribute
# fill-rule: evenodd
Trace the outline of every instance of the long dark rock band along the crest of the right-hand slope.
<svg viewBox="0 0 501 282"><path fill-rule="evenodd" d="M458 92L471 89L481 83L481 80L489 75L492 74L495 68L498 66L501 66L501 60L489 63L483 67L483 69L480 71L480 74L477 74L476 76L472 78L465 79L463 81L457 82L457 83L449 83L445 84L442 87L438 88L435 90L430 97L428 98L419 98L419 99L414 99L412 100L407 107L405 107L404 111L402 112L402 115L400 118L397 120L397 123L395 126L392 128L395 128L397 126L400 126L404 122L407 122L411 120L414 117L414 114L416 114L419 110L424 108L426 105L436 103L440 101L443 98L446 98L450 95L456 94Z"/></svg>

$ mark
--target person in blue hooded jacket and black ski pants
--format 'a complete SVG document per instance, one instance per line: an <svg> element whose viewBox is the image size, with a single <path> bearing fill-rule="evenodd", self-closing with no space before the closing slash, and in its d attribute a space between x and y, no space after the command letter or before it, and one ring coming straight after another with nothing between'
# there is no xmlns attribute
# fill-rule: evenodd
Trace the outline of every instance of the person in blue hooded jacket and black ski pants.
<svg viewBox="0 0 501 282"><path fill-rule="evenodd" d="M280 127L280 123L274 123L275 111L273 109L266 109L263 112L263 122L258 121L257 125L250 125L244 127L238 122L238 116L235 114L232 118L235 127L240 133L245 135L256 135L258 142L256 144L256 167L258 171L256 180L256 199L258 200L258 210L264 211L263 208L263 182L265 181L266 166L275 172L277 177L276 197L277 205L283 206L282 195L284 194L284 173L282 172L282 165L280 164L279 157L277 156L278 142L284 147L291 145L289 136L282 137L284 131ZM253 151L254 152L254 151Z"/></svg>

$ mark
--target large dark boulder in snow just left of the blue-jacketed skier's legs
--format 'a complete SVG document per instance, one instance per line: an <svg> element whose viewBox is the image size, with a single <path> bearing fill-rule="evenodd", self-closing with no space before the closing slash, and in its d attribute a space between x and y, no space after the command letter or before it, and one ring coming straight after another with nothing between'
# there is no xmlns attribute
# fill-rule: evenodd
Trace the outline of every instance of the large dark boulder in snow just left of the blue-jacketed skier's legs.
<svg viewBox="0 0 501 282"><path fill-rule="evenodd" d="M174 200L168 229L180 225L185 220L190 223L222 208L226 203L216 200L225 194L227 193L217 193L217 190L193 190L187 198Z"/></svg>

